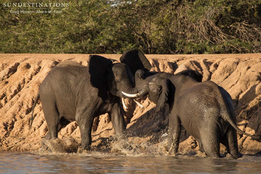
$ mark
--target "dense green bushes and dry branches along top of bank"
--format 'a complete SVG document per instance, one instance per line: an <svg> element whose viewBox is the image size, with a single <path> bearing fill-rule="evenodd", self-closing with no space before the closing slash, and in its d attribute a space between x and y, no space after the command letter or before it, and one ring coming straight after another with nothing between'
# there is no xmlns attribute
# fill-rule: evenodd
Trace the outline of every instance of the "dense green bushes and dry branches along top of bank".
<svg viewBox="0 0 261 174"><path fill-rule="evenodd" d="M62 1L62 14L11 14L4 2L0 53L261 52L260 0Z"/></svg>

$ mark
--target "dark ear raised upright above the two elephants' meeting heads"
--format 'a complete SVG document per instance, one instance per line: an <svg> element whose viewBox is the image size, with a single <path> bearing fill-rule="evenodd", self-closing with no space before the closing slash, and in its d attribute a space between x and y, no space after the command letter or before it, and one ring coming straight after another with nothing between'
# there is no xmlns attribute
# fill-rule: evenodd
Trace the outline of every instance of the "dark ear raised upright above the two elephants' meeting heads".
<svg viewBox="0 0 261 174"><path fill-rule="evenodd" d="M131 70L133 76L138 69L142 69L144 72L150 71L152 68L150 62L145 55L138 49L127 50L120 58L122 63L126 63Z"/></svg>

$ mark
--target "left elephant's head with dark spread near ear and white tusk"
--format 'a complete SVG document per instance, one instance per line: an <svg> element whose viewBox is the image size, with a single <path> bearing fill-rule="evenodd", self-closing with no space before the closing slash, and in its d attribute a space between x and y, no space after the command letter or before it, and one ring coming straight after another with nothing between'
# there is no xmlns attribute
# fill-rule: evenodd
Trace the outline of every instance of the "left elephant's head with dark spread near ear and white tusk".
<svg viewBox="0 0 261 174"><path fill-rule="evenodd" d="M139 93L134 85L134 77L125 63L112 63L98 55L90 55L88 71L90 82L98 88L98 96L103 101L108 100L108 92L121 98L137 98Z"/></svg>

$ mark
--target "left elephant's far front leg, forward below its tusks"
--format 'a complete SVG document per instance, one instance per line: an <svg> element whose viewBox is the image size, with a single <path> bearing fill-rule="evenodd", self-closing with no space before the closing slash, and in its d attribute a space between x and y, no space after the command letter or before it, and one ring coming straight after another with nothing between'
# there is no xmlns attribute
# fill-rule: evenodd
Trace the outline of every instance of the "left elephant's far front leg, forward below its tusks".
<svg viewBox="0 0 261 174"><path fill-rule="evenodd" d="M116 104L112 111L109 112L109 117L117 138L126 138L126 123L119 105Z"/></svg>

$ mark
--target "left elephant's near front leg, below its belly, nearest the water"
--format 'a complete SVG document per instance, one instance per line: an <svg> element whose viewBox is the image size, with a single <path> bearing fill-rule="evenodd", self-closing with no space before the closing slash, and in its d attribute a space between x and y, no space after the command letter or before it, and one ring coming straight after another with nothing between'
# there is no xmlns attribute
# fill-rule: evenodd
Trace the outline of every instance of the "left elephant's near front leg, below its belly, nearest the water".
<svg viewBox="0 0 261 174"><path fill-rule="evenodd" d="M93 116L84 115L81 116L80 120L77 121L80 132L81 132L81 147L89 151L92 144L92 125L93 125Z"/></svg>

